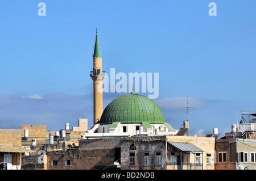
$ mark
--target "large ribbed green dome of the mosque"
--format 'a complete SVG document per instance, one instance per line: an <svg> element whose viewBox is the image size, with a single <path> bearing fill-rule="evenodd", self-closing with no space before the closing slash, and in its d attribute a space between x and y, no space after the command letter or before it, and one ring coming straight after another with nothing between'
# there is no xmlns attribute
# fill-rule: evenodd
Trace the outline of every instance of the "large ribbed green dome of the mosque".
<svg viewBox="0 0 256 181"><path fill-rule="evenodd" d="M142 122L164 124L166 119L154 101L146 96L131 92L131 94L119 96L110 102L101 115L100 124L117 122L122 124Z"/></svg>

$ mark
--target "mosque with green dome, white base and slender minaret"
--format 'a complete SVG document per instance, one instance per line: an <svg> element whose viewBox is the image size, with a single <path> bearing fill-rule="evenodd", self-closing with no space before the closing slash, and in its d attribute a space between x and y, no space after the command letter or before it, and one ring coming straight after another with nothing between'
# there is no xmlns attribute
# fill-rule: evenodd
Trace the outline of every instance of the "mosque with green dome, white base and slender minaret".
<svg viewBox="0 0 256 181"><path fill-rule="evenodd" d="M85 137L176 135L179 131L166 123L162 110L153 100L133 91L114 99L103 111L102 81L105 71L102 70L97 30L90 77L93 80L93 126L86 131Z"/></svg>

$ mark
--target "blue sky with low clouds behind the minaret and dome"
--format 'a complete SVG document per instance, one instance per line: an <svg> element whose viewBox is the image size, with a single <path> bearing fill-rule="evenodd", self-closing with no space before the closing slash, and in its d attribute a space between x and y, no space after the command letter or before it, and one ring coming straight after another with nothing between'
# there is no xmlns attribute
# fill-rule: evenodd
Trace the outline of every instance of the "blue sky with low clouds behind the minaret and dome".
<svg viewBox="0 0 256 181"><path fill-rule="evenodd" d="M39 16L39 2L46 16ZM209 16L210 2L217 16ZM102 64L123 73L159 73L167 123L189 134L225 136L237 110L256 111L255 1L0 1L0 128L92 126L96 28ZM123 95L104 93L104 107ZM240 119L240 117L238 118Z"/></svg>

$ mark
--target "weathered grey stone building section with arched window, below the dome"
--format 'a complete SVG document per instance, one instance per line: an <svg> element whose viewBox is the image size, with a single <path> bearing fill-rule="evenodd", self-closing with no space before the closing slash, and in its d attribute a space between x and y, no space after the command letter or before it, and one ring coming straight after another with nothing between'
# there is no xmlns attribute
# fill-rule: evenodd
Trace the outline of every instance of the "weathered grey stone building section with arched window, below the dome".
<svg viewBox="0 0 256 181"><path fill-rule="evenodd" d="M121 168L125 170L167 169L166 136L134 136L121 141Z"/></svg>

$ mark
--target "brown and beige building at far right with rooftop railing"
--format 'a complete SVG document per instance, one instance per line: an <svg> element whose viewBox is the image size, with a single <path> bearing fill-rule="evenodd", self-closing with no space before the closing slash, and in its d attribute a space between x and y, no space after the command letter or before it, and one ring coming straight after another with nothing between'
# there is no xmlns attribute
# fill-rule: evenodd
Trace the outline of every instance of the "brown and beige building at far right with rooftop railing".
<svg viewBox="0 0 256 181"><path fill-rule="evenodd" d="M237 111L240 112L240 111ZM238 119L237 119L238 121ZM217 170L256 169L256 114L241 111L241 121L216 140Z"/></svg>

